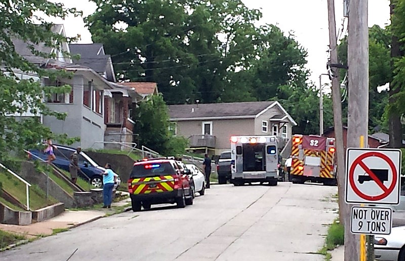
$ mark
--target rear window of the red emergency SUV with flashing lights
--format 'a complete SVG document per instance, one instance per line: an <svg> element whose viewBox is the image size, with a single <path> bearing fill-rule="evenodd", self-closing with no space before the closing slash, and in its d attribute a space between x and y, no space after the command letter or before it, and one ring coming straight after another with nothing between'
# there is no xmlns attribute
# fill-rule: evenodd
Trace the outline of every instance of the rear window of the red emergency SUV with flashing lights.
<svg viewBox="0 0 405 261"><path fill-rule="evenodd" d="M176 175L176 171L170 162L151 162L135 165L132 168L130 178L134 179L164 175Z"/></svg>

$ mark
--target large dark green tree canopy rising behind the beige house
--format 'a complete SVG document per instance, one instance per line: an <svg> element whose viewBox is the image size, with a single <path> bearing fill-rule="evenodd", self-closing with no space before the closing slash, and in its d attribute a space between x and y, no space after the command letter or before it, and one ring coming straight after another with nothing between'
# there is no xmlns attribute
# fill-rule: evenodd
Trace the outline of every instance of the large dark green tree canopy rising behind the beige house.
<svg viewBox="0 0 405 261"><path fill-rule="evenodd" d="M291 108L304 103L302 92L318 104L306 50L277 26L255 26L261 12L240 0L92 1L87 26L117 78L157 82L168 104L282 100ZM300 131L317 129L310 106L292 112L311 125Z"/></svg>

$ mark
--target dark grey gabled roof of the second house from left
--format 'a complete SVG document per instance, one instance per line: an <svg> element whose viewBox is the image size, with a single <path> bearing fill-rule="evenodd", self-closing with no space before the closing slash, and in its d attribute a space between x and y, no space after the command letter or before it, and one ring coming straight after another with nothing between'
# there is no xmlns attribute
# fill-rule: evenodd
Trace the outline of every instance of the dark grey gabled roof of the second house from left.
<svg viewBox="0 0 405 261"><path fill-rule="evenodd" d="M80 55L79 60L73 60L74 63L90 67L100 74L106 73L107 79L115 82L111 56L105 54L102 43L73 43L69 49L71 54Z"/></svg>

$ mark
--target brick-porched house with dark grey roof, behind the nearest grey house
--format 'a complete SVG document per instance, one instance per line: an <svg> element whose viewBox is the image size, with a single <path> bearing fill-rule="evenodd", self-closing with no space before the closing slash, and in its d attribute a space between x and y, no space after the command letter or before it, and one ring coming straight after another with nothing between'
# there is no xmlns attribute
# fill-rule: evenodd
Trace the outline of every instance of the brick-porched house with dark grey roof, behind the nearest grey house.
<svg viewBox="0 0 405 261"><path fill-rule="evenodd" d="M102 43L71 44L70 52L80 55L76 63L86 65L95 70L99 75L111 82L112 90L104 92L104 147L107 149L125 149L131 146L134 140L134 121L131 120L132 110L135 109L138 101L144 99L137 90L123 83L115 83L115 72L111 57L106 55ZM137 84L137 86L142 84ZM148 83L156 88L156 83ZM146 90L143 93L147 92ZM142 93L142 94L143 94ZM120 143L120 144L113 144ZM127 144L125 144L127 143Z"/></svg>

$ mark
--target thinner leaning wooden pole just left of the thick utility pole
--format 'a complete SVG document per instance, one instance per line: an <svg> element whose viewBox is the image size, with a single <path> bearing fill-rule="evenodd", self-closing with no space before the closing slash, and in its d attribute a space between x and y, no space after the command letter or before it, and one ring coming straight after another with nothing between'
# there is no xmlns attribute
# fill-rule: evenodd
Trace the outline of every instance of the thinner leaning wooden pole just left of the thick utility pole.
<svg viewBox="0 0 405 261"><path fill-rule="evenodd" d="M337 35L336 35L336 20L335 20L335 0L328 0L328 20L329 20L329 48L331 59L329 64L338 64L337 50ZM339 191L339 221L344 225L344 216L349 212L348 206L345 203L345 149L343 145L343 125L342 125L342 102L340 94L340 79L339 70L331 68L332 76L332 102L333 102L333 120L335 129L335 144L336 144L336 161L337 161L337 176L338 176L338 191ZM320 76L319 76L320 77ZM319 81L320 86L320 81Z"/></svg>

